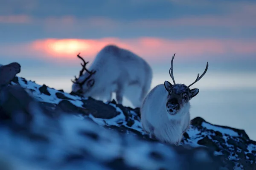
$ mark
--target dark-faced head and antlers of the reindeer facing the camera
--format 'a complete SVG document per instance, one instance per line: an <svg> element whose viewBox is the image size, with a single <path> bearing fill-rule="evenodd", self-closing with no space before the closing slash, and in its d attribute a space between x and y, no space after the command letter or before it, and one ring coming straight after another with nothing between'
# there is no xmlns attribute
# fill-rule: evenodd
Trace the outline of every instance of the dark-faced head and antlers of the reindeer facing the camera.
<svg viewBox="0 0 256 170"><path fill-rule="evenodd" d="M169 69L169 74L174 84L172 85L168 81L164 82L164 87L166 88L166 91L168 91L168 96L166 101L166 111L170 115L175 115L183 108L186 108L186 106L189 106L189 100L195 97L199 93L198 88L190 89L189 87L195 84L196 82L198 82L208 70L208 62L207 62L204 73L200 77L198 73L198 76L195 79L195 82L193 82L189 86L186 86L184 84L176 84L175 79L173 77L174 57L175 57L175 54L172 56L171 68Z"/></svg>

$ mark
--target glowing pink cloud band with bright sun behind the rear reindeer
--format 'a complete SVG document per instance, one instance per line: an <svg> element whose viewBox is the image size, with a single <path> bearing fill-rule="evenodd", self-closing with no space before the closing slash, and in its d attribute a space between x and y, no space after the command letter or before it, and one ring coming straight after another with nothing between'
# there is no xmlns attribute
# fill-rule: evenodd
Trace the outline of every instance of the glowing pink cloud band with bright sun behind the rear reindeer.
<svg viewBox="0 0 256 170"><path fill-rule="evenodd" d="M256 41L249 40L170 40L153 37L119 39L115 37L102 39L42 39L28 43L0 46L0 56L17 56L23 58L40 58L70 62L76 60L76 55L92 60L96 54L108 44L116 44L126 48L144 59L160 61L169 58L174 53L179 58L200 59L207 56L224 56L232 58L256 54Z"/></svg>

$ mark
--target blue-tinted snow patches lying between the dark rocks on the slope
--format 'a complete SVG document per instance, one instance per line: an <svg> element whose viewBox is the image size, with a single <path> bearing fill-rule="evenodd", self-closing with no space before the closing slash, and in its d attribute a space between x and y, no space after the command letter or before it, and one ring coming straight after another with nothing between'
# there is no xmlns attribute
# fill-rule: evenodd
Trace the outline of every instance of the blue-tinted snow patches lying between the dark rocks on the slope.
<svg viewBox="0 0 256 170"><path fill-rule="evenodd" d="M83 105L82 100L86 100L86 98L73 96L47 87L47 91L50 93L48 96L41 94L39 91L41 85L35 84L32 81L25 83L20 77L18 77L18 81L23 88L32 89L32 91L28 91L41 102L58 104L63 99L58 99L55 95L56 92L64 94L64 96L70 98L68 100L69 102L80 108ZM146 134L143 131L141 122L135 119L137 113L130 111L130 117L134 121L134 124L130 127L126 125L126 117L123 111L113 103L109 105L114 107L119 113L112 119L100 119L94 117L92 114L86 117L81 116L79 113L76 115L61 113L62 116L58 121L53 122L45 117L41 109L38 109L32 103L30 109L35 114L32 131L49 139L48 142L29 140L27 136L18 136L14 132L0 127L0 162L3 160L2 155L4 155L7 163L11 164L12 162L12 164L15 164L13 166L19 167L19 170L22 170L22 168L24 170L39 169L38 167L41 168L40 170L83 170L84 167L93 170L108 170L111 168L106 166L105 162L122 158L126 164L141 168L142 170L154 170L160 167L169 169L172 167L173 170L179 170L182 162L180 162L180 156L176 150L172 147L166 147L166 144L142 141L136 134L132 133L132 130L137 130L142 135ZM127 134L125 134L103 127L120 127L120 125L127 127L131 131L127 131ZM229 148L229 151L234 150L233 145L228 144L227 140L230 137L239 137L238 133L228 128L211 125L207 122L203 122L202 127L205 127L206 130L200 130L197 127L191 126L186 132L189 139L180 145L204 147L198 144L198 141L205 136L208 136L213 142L218 143L218 141L213 140L213 137L211 137L215 136L215 134L207 131L214 130L224 134L222 136L222 139L225 141L224 145ZM133 135L130 135L130 133ZM256 150L256 146L249 144L247 149L249 151L245 153L252 153L253 150ZM238 151L241 150L238 149ZM164 158L163 161L152 158L150 156L152 152L159 153ZM66 160L68 155L75 154L85 155L87 157L85 160L76 160L76 162ZM223 155L223 153L221 151L215 151L215 155ZM41 159L38 160L37 158ZM210 160L209 155L203 150L198 153L196 152L194 159ZM239 159L237 154L230 156L230 160L237 159ZM29 165L29 167L26 165Z"/></svg>

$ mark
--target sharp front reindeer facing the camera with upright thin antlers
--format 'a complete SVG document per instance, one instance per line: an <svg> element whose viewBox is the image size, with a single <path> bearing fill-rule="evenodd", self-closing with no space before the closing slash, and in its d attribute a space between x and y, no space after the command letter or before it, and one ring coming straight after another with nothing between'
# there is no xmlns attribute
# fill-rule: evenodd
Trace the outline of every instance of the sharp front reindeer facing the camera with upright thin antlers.
<svg viewBox="0 0 256 170"><path fill-rule="evenodd" d="M189 101L195 97L199 89L189 87L198 82L208 70L208 62L204 73L195 82L186 86L176 84L173 77L173 59L169 69L173 85L165 81L164 84L157 85L145 97L141 107L141 122L143 129L151 137L155 137L161 142L179 144L183 133L189 128L190 114ZM171 72L170 72L171 71Z"/></svg>

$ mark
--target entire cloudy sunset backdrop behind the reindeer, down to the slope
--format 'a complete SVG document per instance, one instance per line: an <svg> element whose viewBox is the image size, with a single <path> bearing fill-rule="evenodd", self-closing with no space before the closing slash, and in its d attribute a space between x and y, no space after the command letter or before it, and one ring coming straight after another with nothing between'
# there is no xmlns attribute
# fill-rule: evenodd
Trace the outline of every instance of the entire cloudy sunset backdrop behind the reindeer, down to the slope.
<svg viewBox="0 0 256 170"><path fill-rule="evenodd" d="M245 129L256 140L255 0L1 0L0 62L19 62L20 77L70 92L81 69L115 44L145 59L151 88L171 81L195 85L192 118ZM209 102L207 102L209 101ZM128 102L127 102L127 105ZM231 118L232 117L232 118Z"/></svg>

